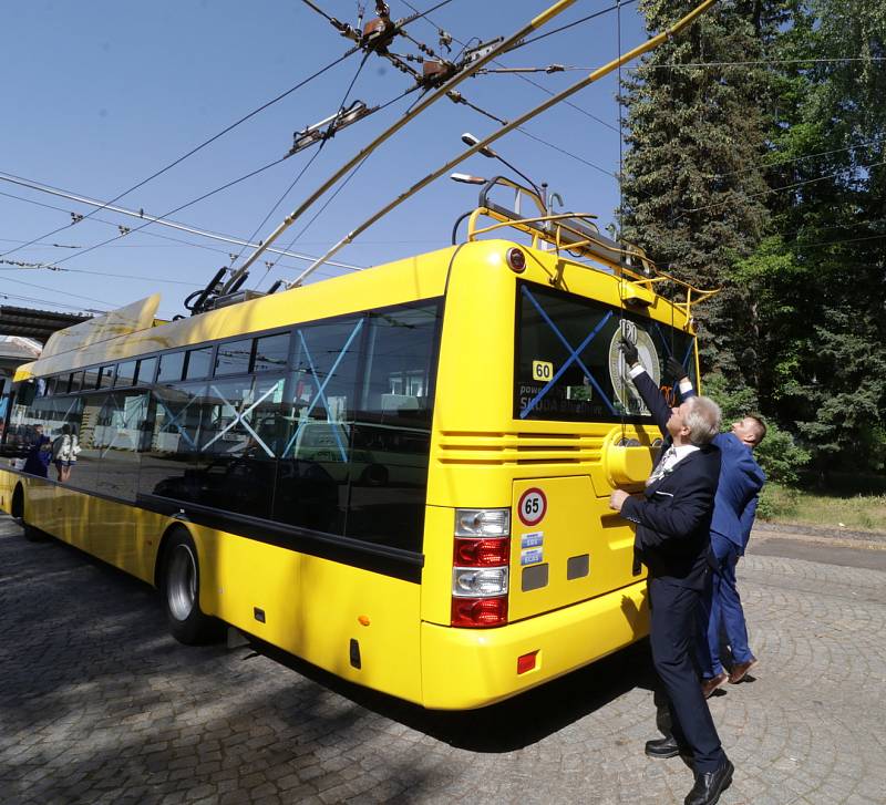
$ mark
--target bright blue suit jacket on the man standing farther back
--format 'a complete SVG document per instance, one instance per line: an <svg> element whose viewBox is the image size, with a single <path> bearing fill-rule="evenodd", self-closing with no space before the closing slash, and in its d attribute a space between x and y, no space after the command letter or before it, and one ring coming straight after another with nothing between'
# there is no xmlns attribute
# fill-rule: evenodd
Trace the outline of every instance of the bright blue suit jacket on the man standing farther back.
<svg viewBox="0 0 886 805"><path fill-rule="evenodd" d="M694 394L693 390L683 398ZM714 436L713 443L720 448L722 462L713 503L711 540L729 540L741 556L751 538L751 526L766 474L754 461L751 448L734 433L720 433ZM720 555L721 551L717 550L717 554Z"/></svg>

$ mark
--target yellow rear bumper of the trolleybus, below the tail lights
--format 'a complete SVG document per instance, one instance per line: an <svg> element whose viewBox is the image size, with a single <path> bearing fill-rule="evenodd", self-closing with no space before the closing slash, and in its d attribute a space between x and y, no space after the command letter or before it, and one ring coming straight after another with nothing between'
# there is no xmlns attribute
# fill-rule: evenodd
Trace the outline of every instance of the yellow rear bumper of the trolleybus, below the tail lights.
<svg viewBox="0 0 886 805"><path fill-rule="evenodd" d="M516 695L649 633L646 580L498 629L422 623L425 708L471 710ZM517 658L537 652L517 674Z"/></svg>

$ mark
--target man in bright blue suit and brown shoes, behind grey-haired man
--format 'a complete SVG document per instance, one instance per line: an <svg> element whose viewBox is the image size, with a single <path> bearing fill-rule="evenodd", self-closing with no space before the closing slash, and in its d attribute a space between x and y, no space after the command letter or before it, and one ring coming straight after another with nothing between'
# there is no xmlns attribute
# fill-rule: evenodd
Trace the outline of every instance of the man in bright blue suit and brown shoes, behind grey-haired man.
<svg viewBox="0 0 886 805"><path fill-rule="evenodd" d="M682 374L682 399L696 392L686 370L674 361L671 372ZM710 597L702 601L701 634L697 643L701 669L702 692L710 696L727 679L738 684L756 664L748 646L748 627L735 581L735 565L744 555L756 514L760 491L765 473L754 461L752 451L766 435L766 426L756 416L745 416L732 423L731 433L718 434L713 443L720 448L720 483L711 520L711 551L717 560L711 578ZM732 669L727 674L720 660L720 629L727 633L732 651Z"/></svg>

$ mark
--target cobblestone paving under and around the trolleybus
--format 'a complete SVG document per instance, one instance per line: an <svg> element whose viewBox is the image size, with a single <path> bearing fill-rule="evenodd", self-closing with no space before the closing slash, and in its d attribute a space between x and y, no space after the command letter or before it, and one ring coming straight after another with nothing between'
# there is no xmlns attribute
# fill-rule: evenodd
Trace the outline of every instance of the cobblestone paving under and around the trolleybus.
<svg viewBox="0 0 886 805"><path fill-rule="evenodd" d="M762 659L711 700L735 763L721 803L883 803L886 575L740 566ZM0 518L4 803L681 803L651 761L645 647L518 700L423 712L250 647L167 637L155 592Z"/></svg>

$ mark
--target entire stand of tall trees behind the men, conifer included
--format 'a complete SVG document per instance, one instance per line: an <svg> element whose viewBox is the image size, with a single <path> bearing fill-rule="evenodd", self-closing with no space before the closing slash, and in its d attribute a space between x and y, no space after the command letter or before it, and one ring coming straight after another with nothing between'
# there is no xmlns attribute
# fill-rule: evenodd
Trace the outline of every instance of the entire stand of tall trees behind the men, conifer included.
<svg viewBox="0 0 886 805"><path fill-rule="evenodd" d="M641 8L660 30L687 7ZM884 97L886 3L864 0L719 3L625 82L625 235L722 289L698 311L709 384L821 477L886 453Z"/></svg>

